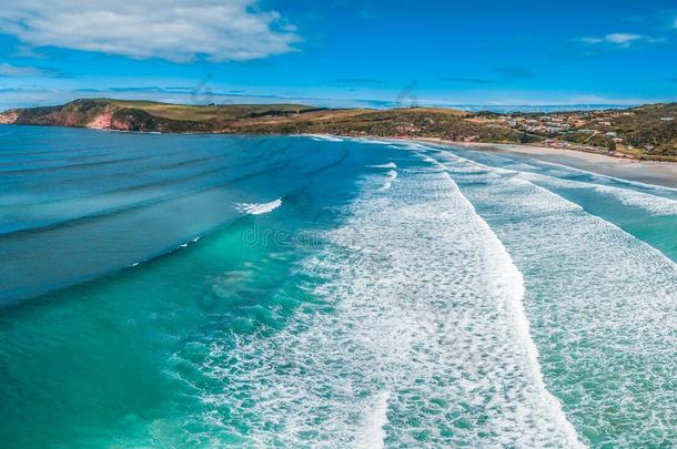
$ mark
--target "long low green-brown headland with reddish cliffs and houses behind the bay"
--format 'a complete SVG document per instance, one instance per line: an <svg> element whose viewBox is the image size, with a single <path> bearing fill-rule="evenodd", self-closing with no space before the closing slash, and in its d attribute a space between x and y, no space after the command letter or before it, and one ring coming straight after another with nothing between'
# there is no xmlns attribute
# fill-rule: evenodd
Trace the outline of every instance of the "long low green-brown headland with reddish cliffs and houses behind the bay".
<svg viewBox="0 0 677 449"><path fill-rule="evenodd" d="M469 113L443 108L324 109L302 104L185 105L84 99L6 111L0 123L176 133L323 133L534 143L614 156L677 161L677 103L628 110Z"/></svg>

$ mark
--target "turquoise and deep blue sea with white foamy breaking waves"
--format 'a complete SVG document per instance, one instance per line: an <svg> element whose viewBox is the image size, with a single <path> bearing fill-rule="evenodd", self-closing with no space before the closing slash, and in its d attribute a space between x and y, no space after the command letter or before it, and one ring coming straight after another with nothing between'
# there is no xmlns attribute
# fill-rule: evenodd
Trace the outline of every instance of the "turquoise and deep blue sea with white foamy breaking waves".
<svg viewBox="0 0 677 449"><path fill-rule="evenodd" d="M670 447L677 191L312 136L0 129L3 447Z"/></svg>

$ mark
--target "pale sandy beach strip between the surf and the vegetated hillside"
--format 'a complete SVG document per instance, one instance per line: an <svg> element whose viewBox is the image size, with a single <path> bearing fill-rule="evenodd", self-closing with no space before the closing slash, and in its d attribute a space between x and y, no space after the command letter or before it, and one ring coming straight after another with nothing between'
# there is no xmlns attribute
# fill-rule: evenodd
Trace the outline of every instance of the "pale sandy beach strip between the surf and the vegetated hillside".
<svg viewBox="0 0 677 449"><path fill-rule="evenodd" d="M529 156L537 161L566 165L604 176L618 177L644 184L677 188L677 163L661 161L637 161L583 151L550 149L536 145L503 143L452 142L441 139L414 139L413 142L436 143L467 150Z"/></svg>

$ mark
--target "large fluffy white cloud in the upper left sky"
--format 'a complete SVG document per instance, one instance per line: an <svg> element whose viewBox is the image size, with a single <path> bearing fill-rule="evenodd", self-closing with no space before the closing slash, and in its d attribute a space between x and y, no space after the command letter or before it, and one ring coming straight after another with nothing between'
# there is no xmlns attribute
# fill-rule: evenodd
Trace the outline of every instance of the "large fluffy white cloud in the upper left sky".
<svg viewBox="0 0 677 449"><path fill-rule="evenodd" d="M32 47L190 62L294 51L295 29L259 0L21 0L0 8L0 32Z"/></svg>

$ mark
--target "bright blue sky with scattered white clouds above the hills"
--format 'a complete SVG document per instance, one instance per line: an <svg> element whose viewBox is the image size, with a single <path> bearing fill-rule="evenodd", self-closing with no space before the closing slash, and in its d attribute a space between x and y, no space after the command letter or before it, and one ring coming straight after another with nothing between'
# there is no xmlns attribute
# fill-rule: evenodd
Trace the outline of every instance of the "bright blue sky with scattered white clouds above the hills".
<svg viewBox="0 0 677 449"><path fill-rule="evenodd" d="M675 1L4 3L0 110L83 96L376 108L677 101Z"/></svg>

